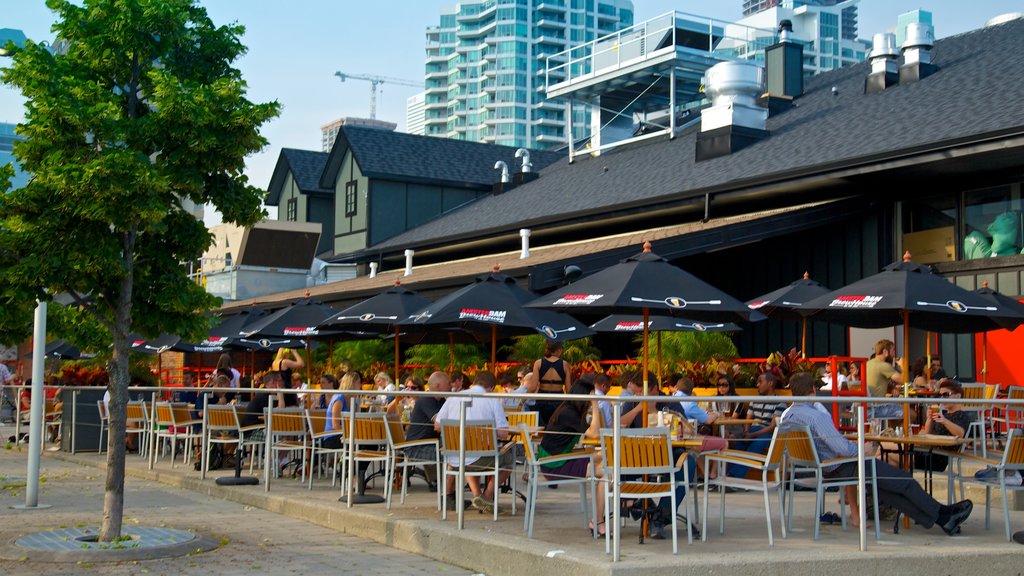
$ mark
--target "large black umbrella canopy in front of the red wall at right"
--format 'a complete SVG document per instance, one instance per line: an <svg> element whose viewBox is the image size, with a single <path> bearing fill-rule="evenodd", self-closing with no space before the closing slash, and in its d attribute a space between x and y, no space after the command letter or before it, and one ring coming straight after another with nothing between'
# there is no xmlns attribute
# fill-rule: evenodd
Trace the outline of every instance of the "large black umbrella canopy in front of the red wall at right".
<svg viewBox="0 0 1024 576"><path fill-rule="evenodd" d="M932 332L974 333L1024 322L1015 313L991 299L965 290L932 274L930 266L910 261L887 265L882 272L805 302L798 310L814 320L837 322L858 328L886 328L906 324Z"/></svg>

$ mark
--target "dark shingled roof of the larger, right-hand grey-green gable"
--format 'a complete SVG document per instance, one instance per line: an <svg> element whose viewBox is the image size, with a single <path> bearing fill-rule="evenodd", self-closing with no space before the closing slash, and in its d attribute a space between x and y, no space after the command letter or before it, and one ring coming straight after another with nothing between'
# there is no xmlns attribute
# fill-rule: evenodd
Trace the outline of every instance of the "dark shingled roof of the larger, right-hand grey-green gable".
<svg viewBox="0 0 1024 576"><path fill-rule="evenodd" d="M515 160L516 149L506 146L342 126L319 186L334 184L349 148L366 176L461 188L493 186L500 177L495 170L498 160L504 160L510 171L518 169L519 164ZM535 171L564 158L560 152L529 151Z"/></svg>

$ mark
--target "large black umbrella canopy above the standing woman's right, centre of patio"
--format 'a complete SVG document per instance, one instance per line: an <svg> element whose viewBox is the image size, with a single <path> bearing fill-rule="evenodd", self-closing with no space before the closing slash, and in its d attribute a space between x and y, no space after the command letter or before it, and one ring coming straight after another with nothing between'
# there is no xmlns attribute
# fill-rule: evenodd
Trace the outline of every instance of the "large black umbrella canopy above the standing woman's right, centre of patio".
<svg viewBox="0 0 1024 576"><path fill-rule="evenodd" d="M764 315L651 252L626 258L565 288L529 302L527 307L579 314L622 314L648 310L659 315L727 322L764 320Z"/></svg>

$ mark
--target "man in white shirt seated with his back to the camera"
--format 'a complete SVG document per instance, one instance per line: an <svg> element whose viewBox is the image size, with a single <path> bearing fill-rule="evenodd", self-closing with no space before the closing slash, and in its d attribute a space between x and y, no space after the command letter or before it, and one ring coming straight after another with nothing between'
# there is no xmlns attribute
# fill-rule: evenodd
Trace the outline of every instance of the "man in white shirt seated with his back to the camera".
<svg viewBox="0 0 1024 576"><path fill-rule="evenodd" d="M486 420L488 422L494 422L495 427L498 429L499 440L506 440L509 436L508 427L509 421L505 417L505 408L502 407L502 403L497 398L487 398L483 395L489 394L495 389L495 385L498 380L492 372L486 370L481 370L476 373L473 378L473 385L469 389L463 392L463 397L451 397L444 402L444 406L441 406L440 411L437 412L437 416L434 417L434 428L441 429L441 422L444 420L455 420L455 425L458 425L459 420L459 406L462 403L468 403L466 405L466 420ZM474 398L470 398L470 397ZM514 455L510 450L505 450L501 452L498 461L501 467L501 472L499 472L498 484L501 485L508 479L509 475L512 474L512 465L514 464ZM447 458L449 467L456 468L459 466L458 457ZM495 465L494 457L490 458L466 458L467 469L487 469L493 468ZM483 511L492 512L494 511L493 502L495 490L498 488L495 483L488 483L484 490L480 490L479 479L475 477L467 477L466 482L469 484L469 489L473 493L473 507ZM450 498L455 498L455 478L449 477L445 483L445 488Z"/></svg>

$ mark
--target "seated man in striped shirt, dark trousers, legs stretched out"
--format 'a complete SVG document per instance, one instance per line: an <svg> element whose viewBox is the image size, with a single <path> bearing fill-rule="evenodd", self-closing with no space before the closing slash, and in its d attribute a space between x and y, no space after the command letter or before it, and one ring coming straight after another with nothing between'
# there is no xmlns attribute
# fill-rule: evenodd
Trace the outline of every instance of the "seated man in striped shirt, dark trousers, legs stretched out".
<svg viewBox="0 0 1024 576"><path fill-rule="evenodd" d="M793 396L813 396L813 378L791 379L790 385L793 389ZM793 425L808 426L811 438L814 440L814 447L821 460L850 457L857 454L857 445L844 438L833 425L831 418L814 408L813 404L794 404L785 411L780 421L782 429ZM951 506L940 504L928 492L925 492L925 489L913 480L909 472L883 460L877 461L876 466L878 467L879 500L883 504L893 506L910 517L921 526L931 528L938 524L946 534L953 536L959 533L961 524L971 516L971 510L974 507L971 500L962 500ZM865 467L864 471L866 475L870 475L871 469ZM857 478L857 463L847 462L825 466L824 475L828 479ZM851 492L847 494L849 495ZM853 503L856 502L856 498L848 497L848 500L851 502L850 512L853 515L854 525L857 525L859 509Z"/></svg>

